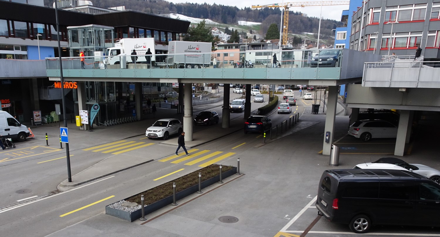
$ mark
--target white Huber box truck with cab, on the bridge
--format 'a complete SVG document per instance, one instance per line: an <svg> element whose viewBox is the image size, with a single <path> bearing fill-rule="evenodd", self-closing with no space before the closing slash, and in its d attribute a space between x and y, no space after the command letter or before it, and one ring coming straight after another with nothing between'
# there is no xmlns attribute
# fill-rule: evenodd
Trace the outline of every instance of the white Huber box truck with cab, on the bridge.
<svg viewBox="0 0 440 237"><path fill-rule="evenodd" d="M138 57L136 63L147 63L147 59L143 55L146 54L148 48L151 52L151 63L156 61L154 57L154 38L124 38L117 40L114 47L106 49L105 63L107 65L121 64L121 62L134 63L130 56L133 49L136 50Z"/></svg>

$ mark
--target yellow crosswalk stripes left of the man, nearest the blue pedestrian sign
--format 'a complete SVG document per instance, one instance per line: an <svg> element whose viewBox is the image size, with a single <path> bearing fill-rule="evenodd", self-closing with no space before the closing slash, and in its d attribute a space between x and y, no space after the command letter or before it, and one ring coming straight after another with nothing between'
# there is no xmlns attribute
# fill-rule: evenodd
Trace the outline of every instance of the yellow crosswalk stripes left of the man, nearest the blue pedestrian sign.
<svg viewBox="0 0 440 237"><path fill-rule="evenodd" d="M154 143L136 142L136 141L115 141L98 146L93 146L83 149L83 151L102 152L117 155L125 152L130 152L139 148L153 145Z"/></svg>

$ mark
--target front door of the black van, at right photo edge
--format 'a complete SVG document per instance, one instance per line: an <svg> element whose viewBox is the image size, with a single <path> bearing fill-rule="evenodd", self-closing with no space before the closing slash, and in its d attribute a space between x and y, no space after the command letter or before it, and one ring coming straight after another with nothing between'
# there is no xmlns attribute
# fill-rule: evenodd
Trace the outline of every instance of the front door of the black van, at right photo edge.
<svg viewBox="0 0 440 237"><path fill-rule="evenodd" d="M415 225L439 226L440 186L421 182L418 185L418 200L414 211Z"/></svg>

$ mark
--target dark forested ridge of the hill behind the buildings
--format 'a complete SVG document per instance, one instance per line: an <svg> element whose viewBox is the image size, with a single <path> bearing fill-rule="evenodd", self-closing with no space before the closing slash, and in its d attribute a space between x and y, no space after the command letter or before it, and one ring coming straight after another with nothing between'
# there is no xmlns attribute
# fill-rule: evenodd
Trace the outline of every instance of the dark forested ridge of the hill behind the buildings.
<svg viewBox="0 0 440 237"><path fill-rule="evenodd" d="M182 3L173 4L165 0L92 0L97 7L125 6L126 9L164 15L170 13L182 14L194 18L211 19L223 24L237 24L237 21L261 22L260 34L264 35L269 26L275 23L279 26L281 11L279 8L258 8L251 6L239 9L238 7L218 4ZM46 6L52 6L52 0L44 0ZM300 11L289 12L289 33L299 34L302 32L318 33L319 18L306 17ZM324 19L321 21L321 33L334 35L331 29L335 29L340 22Z"/></svg>

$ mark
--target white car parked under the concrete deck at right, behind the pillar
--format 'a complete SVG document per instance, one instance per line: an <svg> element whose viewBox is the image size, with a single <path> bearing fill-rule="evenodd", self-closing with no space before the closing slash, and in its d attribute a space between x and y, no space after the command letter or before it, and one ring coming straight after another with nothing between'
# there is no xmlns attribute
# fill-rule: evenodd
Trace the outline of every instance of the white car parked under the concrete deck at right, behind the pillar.
<svg viewBox="0 0 440 237"><path fill-rule="evenodd" d="M370 141L371 138L396 138L397 127L385 120L359 120L350 126L348 135L360 138L362 141Z"/></svg>

